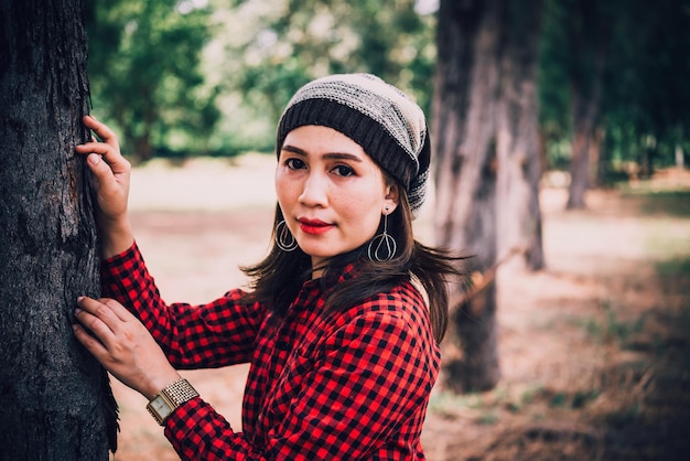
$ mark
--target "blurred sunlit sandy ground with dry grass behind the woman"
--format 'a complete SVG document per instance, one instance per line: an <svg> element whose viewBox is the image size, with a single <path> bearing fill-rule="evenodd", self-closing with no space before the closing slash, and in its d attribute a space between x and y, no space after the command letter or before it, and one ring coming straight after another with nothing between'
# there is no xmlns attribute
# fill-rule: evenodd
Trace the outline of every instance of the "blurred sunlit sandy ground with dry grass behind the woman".
<svg viewBox="0 0 690 461"><path fill-rule="evenodd" d="M272 221L272 159L152 162L132 178L139 245L169 301L204 302L244 282ZM547 268L498 276L503 377L486 393L434 388L423 432L431 461L676 460L690 449L690 173L597 190L565 212L542 190ZM427 206L418 221L430 242ZM452 336L444 351L453 354ZM246 366L185 372L239 428ZM114 380L116 460L179 459Z"/></svg>

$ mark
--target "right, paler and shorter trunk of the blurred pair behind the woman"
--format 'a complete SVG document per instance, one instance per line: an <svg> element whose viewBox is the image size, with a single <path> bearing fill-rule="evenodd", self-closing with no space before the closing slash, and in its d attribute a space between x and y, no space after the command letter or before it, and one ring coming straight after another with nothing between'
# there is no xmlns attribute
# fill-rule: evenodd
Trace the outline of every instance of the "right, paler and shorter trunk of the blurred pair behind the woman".
<svg viewBox="0 0 690 461"><path fill-rule="evenodd" d="M541 0L509 2L498 105L498 257L529 270L546 266L541 240L541 157L537 110L537 64Z"/></svg>

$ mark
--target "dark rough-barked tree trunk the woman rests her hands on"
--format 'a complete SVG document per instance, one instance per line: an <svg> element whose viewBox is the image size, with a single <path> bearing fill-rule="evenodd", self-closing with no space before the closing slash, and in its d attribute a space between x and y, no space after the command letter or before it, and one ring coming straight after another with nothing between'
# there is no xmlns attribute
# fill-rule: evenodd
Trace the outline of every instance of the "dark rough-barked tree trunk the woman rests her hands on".
<svg viewBox="0 0 690 461"><path fill-rule="evenodd" d="M116 449L108 376L72 334L79 294L98 296L88 182L80 0L0 3L0 452L97 460Z"/></svg>

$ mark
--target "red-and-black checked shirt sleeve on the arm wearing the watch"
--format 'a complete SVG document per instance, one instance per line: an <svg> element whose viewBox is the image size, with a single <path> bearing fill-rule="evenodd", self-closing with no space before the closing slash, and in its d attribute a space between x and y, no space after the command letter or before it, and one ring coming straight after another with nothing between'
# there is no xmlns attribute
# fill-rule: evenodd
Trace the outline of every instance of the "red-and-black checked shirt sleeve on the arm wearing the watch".
<svg viewBox="0 0 690 461"><path fill-rule="evenodd" d="M281 386L300 390L271 403L280 422L261 440L218 425L195 401L170 418L165 435L184 460L423 459L419 436L436 371L413 336L390 313L337 329L316 363L298 358L283 377Z"/></svg>

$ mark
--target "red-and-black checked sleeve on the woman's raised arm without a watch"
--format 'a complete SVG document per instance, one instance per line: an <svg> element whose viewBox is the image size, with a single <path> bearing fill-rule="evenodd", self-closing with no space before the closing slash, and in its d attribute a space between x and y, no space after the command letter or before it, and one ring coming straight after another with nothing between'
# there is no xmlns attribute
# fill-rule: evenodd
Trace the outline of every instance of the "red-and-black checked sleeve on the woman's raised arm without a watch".
<svg viewBox="0 0 690 461"><path fill-rule="evenodd" d="M220 367L251 358L265 310L244 303L241 290L202 305L165 304L137 244L104 261L101 287L104 297L118 300L141 320L176 368Z"/></svg>

